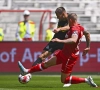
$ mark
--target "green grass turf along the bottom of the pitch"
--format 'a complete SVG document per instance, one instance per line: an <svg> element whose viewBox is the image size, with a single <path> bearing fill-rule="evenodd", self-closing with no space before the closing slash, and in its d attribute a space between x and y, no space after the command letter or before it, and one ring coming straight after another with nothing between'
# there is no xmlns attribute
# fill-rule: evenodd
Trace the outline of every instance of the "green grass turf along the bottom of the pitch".
<svg viewBox="0 0 100 90"><path fill-rule="evenodd" d="M87 77L82 76L81 77ZM100 76L92 76L93 80L100 85ZM27 84L18 81L18 75L0 75L0 90L100 90L90 87L86 83L74 84L63 88L60 75L33 75Z"/></svg>

